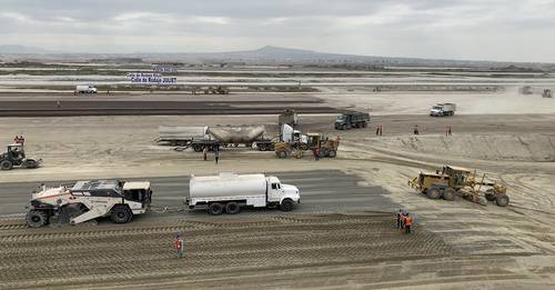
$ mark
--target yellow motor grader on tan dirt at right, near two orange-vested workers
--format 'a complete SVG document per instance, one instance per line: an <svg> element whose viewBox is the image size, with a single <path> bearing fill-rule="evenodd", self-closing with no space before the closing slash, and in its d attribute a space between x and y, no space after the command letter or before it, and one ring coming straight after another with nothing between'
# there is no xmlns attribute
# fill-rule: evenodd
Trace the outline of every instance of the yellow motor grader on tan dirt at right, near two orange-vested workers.
<svg viewBox="0 0 555 290"><path fill-rule="evenodd" d="M460 196L470 201L486 206L495 201L500 207L508 206L507 188L486 180L486 174L476 176L476 171L466 168L445 166L435 172L421 172L408 184L430 199L454 200Z"/></svg>

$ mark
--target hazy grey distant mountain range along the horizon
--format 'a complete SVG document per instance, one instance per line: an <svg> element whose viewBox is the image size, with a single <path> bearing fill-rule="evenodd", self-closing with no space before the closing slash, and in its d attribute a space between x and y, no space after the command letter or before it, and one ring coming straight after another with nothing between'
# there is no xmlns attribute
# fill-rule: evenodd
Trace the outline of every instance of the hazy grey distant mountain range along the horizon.
<svg viewBox="0 0 555 290"><path fill-rule="evenodd" d="M102 61L102 62L151 62L173 61L184 63L244 63L244 64L304 64L304 66L427 66L427 67L518 67L539 68L554 64L517 63L500 61L473 61L448 59L395 58L326 53L312 50L291 49L266 46L256 50L230 52L182 52L182 53L70 53L49 51L40 48L4 44L0 54L6 60L59 60L59 61ZM26 56L21 56L26 54ZM514 67L514 66L513 66ZM515 68L519 70L522 68Z"/></svg>

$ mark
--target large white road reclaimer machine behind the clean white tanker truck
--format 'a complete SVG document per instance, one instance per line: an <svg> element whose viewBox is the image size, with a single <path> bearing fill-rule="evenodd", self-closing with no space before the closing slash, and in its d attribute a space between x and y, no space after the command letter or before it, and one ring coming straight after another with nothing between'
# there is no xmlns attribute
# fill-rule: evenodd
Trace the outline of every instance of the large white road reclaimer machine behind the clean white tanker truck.
<svg viewBox="0 0 555 290"><path fill-rule="evenodd" d="M46 226L52 218L78 224L110 217L114 223L125 223L147 212L151 199L149 181L83 180L56 188L42 186L32 193L26 220L31 228Z"/></svg>

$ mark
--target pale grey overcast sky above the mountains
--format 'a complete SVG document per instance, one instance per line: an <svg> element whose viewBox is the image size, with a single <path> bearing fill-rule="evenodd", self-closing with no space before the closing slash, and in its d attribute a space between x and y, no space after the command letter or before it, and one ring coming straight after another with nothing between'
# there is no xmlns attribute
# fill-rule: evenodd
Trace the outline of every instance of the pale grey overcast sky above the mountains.
<svg viewBox="0 0 555 290"><path fill-rule="evenodd" d="M555 0L0 0L0 44L555 62Z"/></svg>

